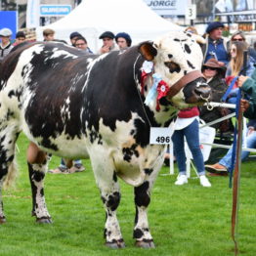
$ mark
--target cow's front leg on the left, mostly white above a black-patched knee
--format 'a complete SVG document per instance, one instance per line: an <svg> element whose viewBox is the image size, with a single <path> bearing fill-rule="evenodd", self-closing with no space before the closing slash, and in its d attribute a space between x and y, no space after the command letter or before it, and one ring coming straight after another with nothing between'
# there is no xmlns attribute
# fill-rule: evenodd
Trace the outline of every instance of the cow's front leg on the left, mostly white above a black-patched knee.
<svg viewBox="0 0 256 256"><path fill-rule="evenodd" d="M99 162L99 158L97 160L92 159L96 181L106 209L107 220L104 231L106 245L110 248L123 248L125 244L116 217L116 209L121 198L117 176L109 161L104 161L105 165L99 165ZM107 168L103 168L103 166Z"/></svg>

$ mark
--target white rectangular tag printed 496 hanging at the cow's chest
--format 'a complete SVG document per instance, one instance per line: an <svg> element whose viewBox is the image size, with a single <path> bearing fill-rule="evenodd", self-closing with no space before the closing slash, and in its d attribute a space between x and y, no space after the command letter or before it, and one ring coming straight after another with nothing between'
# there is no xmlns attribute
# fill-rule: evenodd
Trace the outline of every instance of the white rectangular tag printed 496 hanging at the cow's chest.
<svg viewBox="0 0 256 256"><path fill-rule="evenodd" d="M170 144L171 142L172 129L162 127L151 127L150 128L150 144Z"/></svg>

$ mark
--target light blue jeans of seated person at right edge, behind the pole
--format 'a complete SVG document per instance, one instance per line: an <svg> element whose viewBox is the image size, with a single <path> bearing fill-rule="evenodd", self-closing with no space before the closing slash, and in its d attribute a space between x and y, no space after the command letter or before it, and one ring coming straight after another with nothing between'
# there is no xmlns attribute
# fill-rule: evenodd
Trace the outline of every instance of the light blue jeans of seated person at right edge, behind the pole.
<svg viewBox="0 0 256 256"><path fill-rule="evenodd" d="M256 149L256 132L252 132L246 137L246 144L248 149ZM232 166L232 149L226 153L226 155L219 161L219 164L229 169ZM244 161L250 154L249 151L241 151L241 160Z"/></svg>

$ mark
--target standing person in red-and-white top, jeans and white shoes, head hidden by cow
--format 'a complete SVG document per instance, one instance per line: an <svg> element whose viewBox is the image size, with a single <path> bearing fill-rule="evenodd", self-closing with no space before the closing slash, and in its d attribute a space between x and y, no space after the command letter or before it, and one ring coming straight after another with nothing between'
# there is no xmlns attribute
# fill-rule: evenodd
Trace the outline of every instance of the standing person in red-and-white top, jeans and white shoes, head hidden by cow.
<svg viewBox="0 0 256 256"><path fill-rule="evenodd" d="M182 109L178 113L175 131L172 136L174 154L179 168L179 175L175 185L181 186L188 183L184 144L184 137L186 137L188 146L192 151L192 158L199 175L200 185L203 187L211 187L210 182L205 176L203 155L199 146L198 115L199 110L197 107Z"/></svg>

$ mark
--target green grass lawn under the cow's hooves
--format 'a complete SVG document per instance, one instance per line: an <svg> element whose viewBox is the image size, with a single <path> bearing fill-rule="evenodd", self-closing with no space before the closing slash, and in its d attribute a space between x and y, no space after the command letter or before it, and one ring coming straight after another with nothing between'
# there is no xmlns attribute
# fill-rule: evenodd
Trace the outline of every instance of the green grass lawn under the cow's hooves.
<svg viewBox="0 0 256 256"><path fill-rule="evenodd" d="M25 161L27 141L22 135L18 146L19 178L14 189L3 192L7 223L0 226L1 256L234 255L232 190L227 177L209 178L212 188L202 188L194 177L188 185L178 187L174 185L176 175L163 175L169 173L169 169L163 167L149 205L155 249L134 246L133 188L120 181L122 198L118 218L126 248L112 250L104 245L105 211L90 161L84 161L85 172L46 176L45 194L54 224L36 224L30 217L31 195ZM59 157L53 157L49 167L54 168L59 162ZM242 163L238 214L240 255L256 255L255 184L255 162Z"/></svg>

